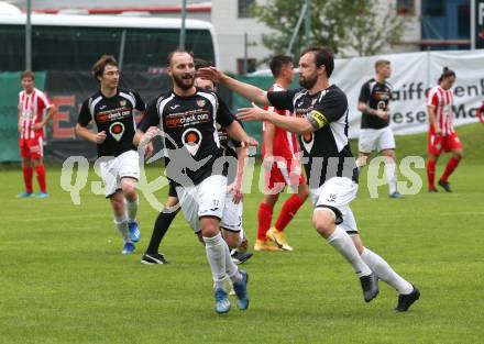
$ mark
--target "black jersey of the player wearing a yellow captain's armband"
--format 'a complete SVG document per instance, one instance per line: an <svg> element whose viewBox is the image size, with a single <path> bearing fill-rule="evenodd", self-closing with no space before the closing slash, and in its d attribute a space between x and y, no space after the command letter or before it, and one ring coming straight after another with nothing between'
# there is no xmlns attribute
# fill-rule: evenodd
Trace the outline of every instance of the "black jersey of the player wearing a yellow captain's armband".
<svg viewBox="0 0 484 344"><path fill-rule="evenodd" d="M348 140L348 99L336 85L309 95L306 89L267 92L272 106L297 116L316 111L324 122L319 130L299 135L302 164L311 189L332 177L358 181L358 168Z"/></svg>

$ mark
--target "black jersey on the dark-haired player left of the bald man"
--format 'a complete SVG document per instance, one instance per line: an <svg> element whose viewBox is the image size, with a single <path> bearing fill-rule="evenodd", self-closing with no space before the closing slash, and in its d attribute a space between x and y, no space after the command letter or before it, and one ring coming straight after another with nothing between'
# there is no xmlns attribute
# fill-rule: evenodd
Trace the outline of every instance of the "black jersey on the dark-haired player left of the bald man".
<svg viewBox="0 0 484 344"><path fill-rule="evenodd" d="M136 131L133 110L145 110L140 95L129 89L119 88L114 97L106 98L97 91L86 99L80 108L77 123L87 126L95 122L98 132L106 132L106 140L98 144L98 156L118 156L136 149L133 137Z"/></svg>

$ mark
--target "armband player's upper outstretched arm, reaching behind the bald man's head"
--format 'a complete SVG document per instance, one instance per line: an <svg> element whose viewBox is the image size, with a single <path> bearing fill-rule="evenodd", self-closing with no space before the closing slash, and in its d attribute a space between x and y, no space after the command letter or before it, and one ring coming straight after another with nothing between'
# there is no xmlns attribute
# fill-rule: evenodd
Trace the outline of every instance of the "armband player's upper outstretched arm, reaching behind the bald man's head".
<svg viewBox="0 0 484 344"><path fill-rule="evenodd" d="M263 106L270 106L266 91L250 84L238 81L216 67L200 68L197 70L197 76L202 79L212 80L213 82L223 84L232 91L250 101Z"/></svg>

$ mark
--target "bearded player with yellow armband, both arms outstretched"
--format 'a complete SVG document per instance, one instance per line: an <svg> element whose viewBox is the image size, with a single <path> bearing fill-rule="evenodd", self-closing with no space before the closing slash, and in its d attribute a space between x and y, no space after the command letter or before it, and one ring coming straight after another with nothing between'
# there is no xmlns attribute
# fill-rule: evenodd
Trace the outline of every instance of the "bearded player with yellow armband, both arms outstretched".
<svg viewBox="0 0 484 344"><path fill-rule="evenodd" d="M299 89L265 92L212 67L201 68L198 76L222 82L256 103L297 114L282 116L253 107L240 109L238 116L244 121L270 121L300 135L302 163L315 207L314 226L352 265L366 302L378 295L380 278L398 290L396 310L406 311L420 297L418 289L363 246L350 208L358 192L358 168L348 140L348 99L338 86L329 82L333 69L331 51L310 47L299 59Z"/></svg>

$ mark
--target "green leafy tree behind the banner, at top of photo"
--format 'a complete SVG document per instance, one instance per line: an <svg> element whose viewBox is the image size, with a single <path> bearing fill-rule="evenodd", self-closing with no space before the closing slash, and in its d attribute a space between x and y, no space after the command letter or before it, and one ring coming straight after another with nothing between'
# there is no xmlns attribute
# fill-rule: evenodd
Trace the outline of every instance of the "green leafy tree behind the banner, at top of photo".
<svg viewBox="0 0 484 344"><path fill-rule="evenodd" d="M263 34L263 44L275 54L285 53L305 1L270 0L254 5L255 18L274 30ZM336 54L374 55L400 41L404 21L395 8L378 0L311 0L311 38L306 42L301 27L293 53L309 45L331 47ZM304 25L302 25L304 26Z"/></svg>

